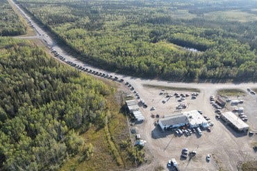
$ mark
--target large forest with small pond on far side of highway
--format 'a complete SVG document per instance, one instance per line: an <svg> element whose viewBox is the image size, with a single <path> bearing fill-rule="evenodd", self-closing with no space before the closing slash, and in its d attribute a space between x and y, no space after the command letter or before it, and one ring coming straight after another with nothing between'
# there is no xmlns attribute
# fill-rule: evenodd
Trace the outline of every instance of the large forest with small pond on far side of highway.
<svg viewBox="0 0 257 171"><path fill-rule="evenodd" d="M17 0L83 61L165 80L257 80L257 3Z"/></svg>

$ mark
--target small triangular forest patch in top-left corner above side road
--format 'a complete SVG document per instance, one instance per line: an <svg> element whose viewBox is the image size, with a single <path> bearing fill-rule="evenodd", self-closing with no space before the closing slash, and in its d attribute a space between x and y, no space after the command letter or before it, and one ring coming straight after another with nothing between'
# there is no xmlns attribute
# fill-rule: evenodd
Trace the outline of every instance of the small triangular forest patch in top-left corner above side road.
<svg viewBox="0 0 257 171"><path fill-rule="evenodd" d="M23 35L26 27L7 0L0 0L0 36Z"/></svg>

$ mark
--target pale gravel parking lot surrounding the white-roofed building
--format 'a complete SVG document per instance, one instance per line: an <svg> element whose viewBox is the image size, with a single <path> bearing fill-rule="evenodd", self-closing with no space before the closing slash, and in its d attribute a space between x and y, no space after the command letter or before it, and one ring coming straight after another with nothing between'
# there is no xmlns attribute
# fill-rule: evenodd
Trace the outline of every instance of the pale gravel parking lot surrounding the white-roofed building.
<svg viewBox="0 0 257 171"><path fill-rule="evenodd" d="M140 96L138 102L144 100L147 104L147 108L140 109L146 120L137 125L138 132L147 141L145 147L156 156L155 163L162 165L165 170L172 170L167 166L167 162L172 158L178 162L179 170L202 170L202 168L204 170L237 170L240 161L256 160L256 153L251 144L257 141L257 135L248 136L246 133L235 132L229 125L215 117L217 107L213 107L210 96L216 96L217 89L212 91L201 89L200 92L193 92L141 85L136 87L135 91ZM234 97L229 98L234 99ZM244 101L238 107L244 107L244 112L248 116L247 123L251 129L256 129L256 96L246 93L245 96L236 98ZM201 136L197 131L177 136L177 129L165 129L163 132L158 125L154 124L164 116L192 110L198 110L204 118L210 120L208 123L213 125L210 127L210 132L201 128ZM227 105L220 110L229 111L231 106ZM184 128L181 127L182 129ZM183 148L188 148L187 154L182 153ZM192 156L189 155L190 152L196 152L196 154ZM207 155L210 156L209 160Z"/></svg>

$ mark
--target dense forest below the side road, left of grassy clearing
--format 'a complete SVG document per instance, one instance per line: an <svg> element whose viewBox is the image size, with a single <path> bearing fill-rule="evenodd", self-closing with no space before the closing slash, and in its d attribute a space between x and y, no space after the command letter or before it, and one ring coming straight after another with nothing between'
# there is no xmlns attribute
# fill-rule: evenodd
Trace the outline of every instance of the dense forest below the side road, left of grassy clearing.
<svg viewBox="0 0 257 171"><path fill-rule="evenodd" d="M0 170L57 170L90 157L78 132L104 127L110 88L24 40L0 37Z"/></svg>

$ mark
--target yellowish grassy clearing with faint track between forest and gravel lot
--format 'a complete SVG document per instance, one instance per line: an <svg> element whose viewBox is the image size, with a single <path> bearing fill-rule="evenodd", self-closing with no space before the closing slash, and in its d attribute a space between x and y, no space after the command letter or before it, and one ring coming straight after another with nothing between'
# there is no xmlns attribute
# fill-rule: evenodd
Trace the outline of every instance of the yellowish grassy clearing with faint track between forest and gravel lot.
<svg viewBox="0 0 257 171"><path fill-rule="evenodd" d="M93 145L90 159L79 163L75 156L68 159L60 170L126 170L135 166L128 151L120 145L129 138L126 116L119 113L120 106L114 96L109 96L107 101L110 109L108 125L103 129L92 126L81 135L86 143Z"/></svg>

